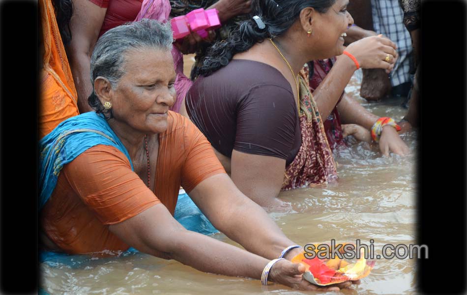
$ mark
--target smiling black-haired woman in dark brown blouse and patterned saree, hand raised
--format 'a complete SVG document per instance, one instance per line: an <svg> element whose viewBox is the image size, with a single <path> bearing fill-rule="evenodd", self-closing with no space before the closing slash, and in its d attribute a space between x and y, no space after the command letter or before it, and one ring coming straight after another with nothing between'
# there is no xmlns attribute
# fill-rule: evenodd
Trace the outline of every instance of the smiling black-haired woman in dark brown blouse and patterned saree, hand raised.
<svg viewBox="0 0 467 295"><path fill-rule="evenodd" d="M340 56L332 69L339 74L321 85L321 91L336 95L358 67L390 71L397 59L395 44L382 36L344 47L343 37L353 24L347 4L253 0L254 17L210 49L201 77L187 94L192 121L237 187L263 207L283 206L276 198L281 189L337 178L303 65ZM342 55L344 50L349 56ZM332 103L322 107L332 110ZM385 133L398 137L395 129Z"/></svg>

